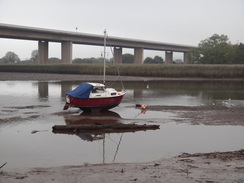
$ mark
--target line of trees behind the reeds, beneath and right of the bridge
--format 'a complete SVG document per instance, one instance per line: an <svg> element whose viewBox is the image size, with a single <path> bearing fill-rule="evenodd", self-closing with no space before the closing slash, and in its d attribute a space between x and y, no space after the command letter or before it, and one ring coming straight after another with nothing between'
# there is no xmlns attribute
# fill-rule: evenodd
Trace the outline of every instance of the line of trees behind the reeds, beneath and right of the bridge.
<svg viewBox="0 0 244 183"><path fill-rule="evenodd" d="M188 60L191 64L244 64L244 44L231 44L228 36L214 34L210 38L200 41L198 47L193 48L188 53ZM49 63L61 63L59 58L49 58ZM103 58L75 58L72 63L86 63L94 64L103 62ZM113 58L108 59L107 62L113 63ZM123 54L122 63L132 64L134 62L134 55ZM7 52L6 55L0 59L3 64L15 63L38 63L38 50L33 50L31 58L20 61L17 54L14 52ZM145 58L144 64L163 64L164 60L160 56L154 58ZM182 60L175 60L174 63L182 63Z"/></svg>

